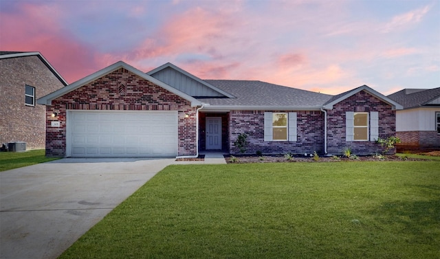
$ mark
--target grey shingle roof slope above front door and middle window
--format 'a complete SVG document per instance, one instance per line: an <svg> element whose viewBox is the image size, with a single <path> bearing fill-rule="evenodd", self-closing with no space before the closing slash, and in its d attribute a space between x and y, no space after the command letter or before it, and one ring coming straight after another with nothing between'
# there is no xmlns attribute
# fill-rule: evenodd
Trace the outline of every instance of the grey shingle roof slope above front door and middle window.
<svg viewBox="0 0 440 259"><path fill-rule="evenodd" d="M201 102L220 106L322 106L333 95L283 87L254 80L205 80L236 98L201 98Z"/></svg>

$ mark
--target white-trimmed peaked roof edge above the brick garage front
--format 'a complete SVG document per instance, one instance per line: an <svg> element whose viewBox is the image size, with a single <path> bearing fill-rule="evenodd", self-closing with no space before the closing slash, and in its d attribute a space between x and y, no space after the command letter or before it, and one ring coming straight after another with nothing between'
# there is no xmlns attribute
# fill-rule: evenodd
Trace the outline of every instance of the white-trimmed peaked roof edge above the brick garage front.
<svg viewBox="0 0 440 259"><path fill-rule="evenodd" d="M145 80L148 80L150 82L153 82L153 84L158 85L159 87L162 87L171 93L175 93L176 95L180 96L181 98L184 98L191 102L192 106L199 106L201 105L201 102L195 98L193 98L190 95L187 95L186 93L183 93L174 87L170 87L169 85L166 85L164 82L157 80L156 78L153 78L152 76L148 76L144 72L135 69L131 65L128 65L122 61L118 61L117 63L114 63L113 65L110 65L109 67L105 67L104 69L101 69L99 71L96 71L94 74L91 74L89 76L86 76L83 79L80 79L67 87L63 87L61 89L58 89L57 91L54 91L48 95L43 96L42 98L39 98L37 100L38 104L46 104L50 105L52 104L52 100L55 100L58 97L61 97L62 95L65 95L66 93L69 93L71 91L74 91L75 89L78 89L80 87L83 87L83 85L87 85L89 82L92 82L98 78L101 78L102 76L105 76L115 70L118 70L120 68L124 68L131 73L135 74L136 76L140 76L140 78L144 78Z"/></svg>

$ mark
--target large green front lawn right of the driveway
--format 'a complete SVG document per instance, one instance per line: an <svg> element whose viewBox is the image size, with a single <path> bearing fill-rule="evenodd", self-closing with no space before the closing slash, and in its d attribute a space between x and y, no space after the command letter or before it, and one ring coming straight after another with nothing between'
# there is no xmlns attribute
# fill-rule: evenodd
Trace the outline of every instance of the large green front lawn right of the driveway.
<svg viewBox="0 0 440 259"><path fill-rule="evenodd" d="M439 258L440 163L168 166L61 258Z"/></svg>

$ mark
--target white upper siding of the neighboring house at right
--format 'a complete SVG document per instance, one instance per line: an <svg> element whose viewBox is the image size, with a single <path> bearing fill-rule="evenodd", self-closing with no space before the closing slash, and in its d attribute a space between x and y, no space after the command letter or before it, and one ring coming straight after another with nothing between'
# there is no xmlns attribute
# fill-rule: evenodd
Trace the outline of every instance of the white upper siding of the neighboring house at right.
<svg viewBox="0 0 440 259"><path fill-rule="evenodd" d="M436 111L440 111L440 108L419 108L397 111L396 131L436 131Z"/></svg>

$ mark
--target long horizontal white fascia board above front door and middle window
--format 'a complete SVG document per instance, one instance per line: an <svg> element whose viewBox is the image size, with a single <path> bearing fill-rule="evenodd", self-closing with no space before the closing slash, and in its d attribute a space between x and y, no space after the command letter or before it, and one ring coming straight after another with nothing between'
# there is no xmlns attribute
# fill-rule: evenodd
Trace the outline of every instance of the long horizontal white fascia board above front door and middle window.
<svg viewBox="0 0 440 259"><path fill-rule="evenodd" d="M208 105L201 111L320 111L322 106L239 106L239 105Z"/></svg>

